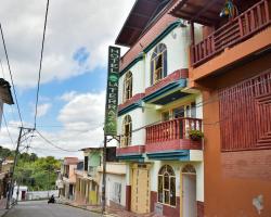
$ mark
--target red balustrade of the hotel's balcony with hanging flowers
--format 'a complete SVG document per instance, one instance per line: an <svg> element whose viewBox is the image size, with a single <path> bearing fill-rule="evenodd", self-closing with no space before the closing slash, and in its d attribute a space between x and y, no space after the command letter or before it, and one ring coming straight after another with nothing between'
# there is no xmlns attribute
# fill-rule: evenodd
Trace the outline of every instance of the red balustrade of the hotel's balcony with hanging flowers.
<svg viewBox="0 0 271 217"><path fill-rule="evenodd" d="M202 119L178 118L146 127L146 144L189 139L190 130L202 130Z"/></svg>

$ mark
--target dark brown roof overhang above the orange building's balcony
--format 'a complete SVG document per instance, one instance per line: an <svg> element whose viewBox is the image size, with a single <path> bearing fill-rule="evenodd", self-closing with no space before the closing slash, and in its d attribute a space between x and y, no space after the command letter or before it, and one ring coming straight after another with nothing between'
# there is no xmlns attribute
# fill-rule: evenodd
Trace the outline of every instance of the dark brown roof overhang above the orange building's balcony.
<svg viewBox="0 0 271 217"><path fill-rule="evenodd" d="M214 26L224 0L180 0L169 12L171 15L198 24Z"/></svg>

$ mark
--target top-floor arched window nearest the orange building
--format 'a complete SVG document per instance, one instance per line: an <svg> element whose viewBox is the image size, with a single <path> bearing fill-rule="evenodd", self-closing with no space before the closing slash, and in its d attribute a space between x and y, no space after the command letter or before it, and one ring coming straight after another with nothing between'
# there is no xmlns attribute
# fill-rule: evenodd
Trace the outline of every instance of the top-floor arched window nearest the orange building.
<svg viewBox="0 0 271 217"><path fill-rule="evenodd" d="M151 85L167 76L167 47L159 43L155 47L151 59Z"/></svg>

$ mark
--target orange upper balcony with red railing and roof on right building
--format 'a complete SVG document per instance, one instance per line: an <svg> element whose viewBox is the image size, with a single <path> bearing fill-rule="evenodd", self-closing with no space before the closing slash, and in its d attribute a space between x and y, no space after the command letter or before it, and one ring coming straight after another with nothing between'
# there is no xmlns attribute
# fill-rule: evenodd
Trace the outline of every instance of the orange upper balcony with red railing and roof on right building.
<svg viewBox="0 0 271 217"><path fill-rule="evenodd" d="M229 15L221 15L227 9L224 0L181 0L170 12L190 21L191 81L223 73L271 50L271 0L230 2ZM203 25L199 41L194 23Z"/></svg>

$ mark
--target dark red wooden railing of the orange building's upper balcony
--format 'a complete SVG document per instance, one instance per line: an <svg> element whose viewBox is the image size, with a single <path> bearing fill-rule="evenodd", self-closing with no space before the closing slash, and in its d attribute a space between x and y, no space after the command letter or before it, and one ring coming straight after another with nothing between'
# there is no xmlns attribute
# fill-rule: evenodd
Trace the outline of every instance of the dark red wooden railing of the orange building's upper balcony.
<svg viewBox="0 0 271 217"><path fill-rule="evenodd" d="M271 23L270 0L261 0L225 25L215 30L207 38L191 46L193 66L209 60L224 48L234 46L264 28Z"/></svg>

